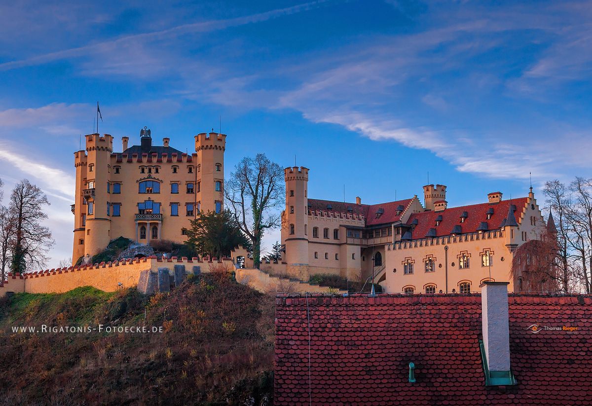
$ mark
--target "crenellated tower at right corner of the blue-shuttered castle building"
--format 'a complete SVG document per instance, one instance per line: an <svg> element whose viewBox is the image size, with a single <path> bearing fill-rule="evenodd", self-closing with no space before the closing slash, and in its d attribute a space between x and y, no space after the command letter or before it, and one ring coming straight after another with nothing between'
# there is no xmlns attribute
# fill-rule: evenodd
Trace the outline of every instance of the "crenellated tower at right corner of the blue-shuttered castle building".
<svg viewBox="0 0 592 406"><path fill-rule="evenodd" d="M195 198L202 211L221 211L223 208L224 150L226 134L201 133L195 136Z"/></svg>

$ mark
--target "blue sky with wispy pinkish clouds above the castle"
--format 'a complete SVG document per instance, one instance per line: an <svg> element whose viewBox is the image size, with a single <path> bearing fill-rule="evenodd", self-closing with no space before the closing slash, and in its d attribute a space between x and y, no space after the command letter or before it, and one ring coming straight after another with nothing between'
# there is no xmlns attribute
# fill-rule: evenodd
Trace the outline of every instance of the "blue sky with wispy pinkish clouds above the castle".
<svg viewBox="0 0 592 406"><path fill-rule="evenodd" d="M590 176L587 1L0 3L0 178L51 206L50 268L72 255L73 152L99 132L194 151L225 173L263 152L308 196L375 204L448 186L449 206ZM265 237L265 247L279 230Z"/></svg>

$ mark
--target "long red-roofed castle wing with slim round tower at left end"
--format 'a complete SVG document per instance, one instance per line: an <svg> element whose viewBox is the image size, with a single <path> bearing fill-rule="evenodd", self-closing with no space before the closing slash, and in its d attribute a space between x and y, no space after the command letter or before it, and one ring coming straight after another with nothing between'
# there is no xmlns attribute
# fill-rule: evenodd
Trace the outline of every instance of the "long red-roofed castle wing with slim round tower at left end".
<svg viewBox="0 0 592 406"><path fill-rule="evenodd" d="M479 291L484 281L510 281L510 290L530 289L510 278L513 253L545 231L532 187L527 196L448 207L446 186L423 186L417 195L381 204L311 199L306 167L284 170L282 212L285 272L307 280L329 273L380 283L392 293ZM549 227L554 225L549 221Z"/></svg>

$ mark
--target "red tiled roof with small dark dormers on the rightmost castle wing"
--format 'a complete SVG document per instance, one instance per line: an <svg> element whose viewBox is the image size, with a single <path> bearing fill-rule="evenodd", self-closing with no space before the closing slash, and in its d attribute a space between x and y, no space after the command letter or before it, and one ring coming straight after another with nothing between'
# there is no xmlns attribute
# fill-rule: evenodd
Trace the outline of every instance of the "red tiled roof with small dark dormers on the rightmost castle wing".
<svg viewBox="0 0 592 406"><path fill-rule="evenodd" d="M514 217L518 224L522 223L522 211L526 207L528 198L502 200L496 204L480 203L469 206L446 208L442 211L424 211L411 214L408 225L417 220L417 225L411 230L411 239L422 239L430 228L436 229L436 237L449 236L455 225L461 225L462 233L478 231L482 221L487 222L489 230L497 230L500 224L508 217L510 202L516 207ZM493 215L487 219L487 211L493 209ZM466 211L467 217L461 223L461 215ZM442 216L442 221L436 225L436 218Z"/></svg>

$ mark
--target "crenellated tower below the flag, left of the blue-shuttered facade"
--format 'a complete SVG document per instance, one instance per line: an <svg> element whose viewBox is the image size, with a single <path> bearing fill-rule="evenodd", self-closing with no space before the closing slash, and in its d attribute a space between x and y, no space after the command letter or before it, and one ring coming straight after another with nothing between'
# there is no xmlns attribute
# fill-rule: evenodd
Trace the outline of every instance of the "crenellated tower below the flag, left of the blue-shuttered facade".
<svg viewBox="0 0 592 406"><path fill-rule="evenodd" d="M113 137L109 134L104 134L102 137L99 134L89 134L85 137L86 184L82 179L82 182L76 185L76 192L81 188L83 199L86 201L86 205L81 205L82 210L86 209L84 254L93 256L104 250L111 240L111 220L107 215L107 202L109 201L107 182L110 182L111 176ZM76 175L78 181L78 167ZM74 262L77 259L78 257L72 257Z"/></svg>

